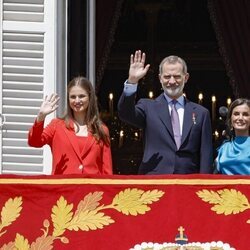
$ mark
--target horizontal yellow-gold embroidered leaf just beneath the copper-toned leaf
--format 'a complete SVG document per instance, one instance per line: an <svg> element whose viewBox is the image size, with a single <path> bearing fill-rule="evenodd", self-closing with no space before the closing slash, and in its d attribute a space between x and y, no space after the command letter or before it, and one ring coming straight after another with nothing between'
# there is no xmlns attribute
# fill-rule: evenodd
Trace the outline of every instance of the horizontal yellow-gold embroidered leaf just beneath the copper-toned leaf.
<svg viewBox="0 0 250 250"><path fill-rule="evenodd" d="M104 213L97 213L97 211L84 211L79 213L77 216L71 220L67 229L71 231L82 231L102 229L104 226L107 226L111 223L114 223L109 216L105 216Z"/></svg>

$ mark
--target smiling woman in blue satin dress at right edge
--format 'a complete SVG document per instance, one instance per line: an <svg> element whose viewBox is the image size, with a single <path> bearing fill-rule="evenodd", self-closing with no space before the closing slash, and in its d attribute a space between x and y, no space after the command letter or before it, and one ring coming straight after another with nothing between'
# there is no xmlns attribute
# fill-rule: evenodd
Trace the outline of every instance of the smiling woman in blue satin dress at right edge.
<svg viewBox="0 0 250 250"><path fill-rule="evenodd" d="M227 175L250 175L250 100L236 99L229 107L226 125L229 140L218 149L217 171Z"/></svg>

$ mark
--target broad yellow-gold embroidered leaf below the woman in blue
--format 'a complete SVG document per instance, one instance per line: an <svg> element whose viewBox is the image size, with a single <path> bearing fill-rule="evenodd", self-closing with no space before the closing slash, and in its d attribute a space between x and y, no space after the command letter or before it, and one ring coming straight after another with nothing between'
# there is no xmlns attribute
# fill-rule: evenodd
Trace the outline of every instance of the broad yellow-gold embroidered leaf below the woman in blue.
<svg viewBox="0 0 250 250"><path fill-rule="evenodd" d="M238 214L250 208L246 196L240 191L235 189L223 189L217 191L217 194L220 196L220 199L218 199L217 204L213 202L215 205L211 208L211 210L215 211L217 214ZM209 202L208 199L204 201Z"/></svg>

